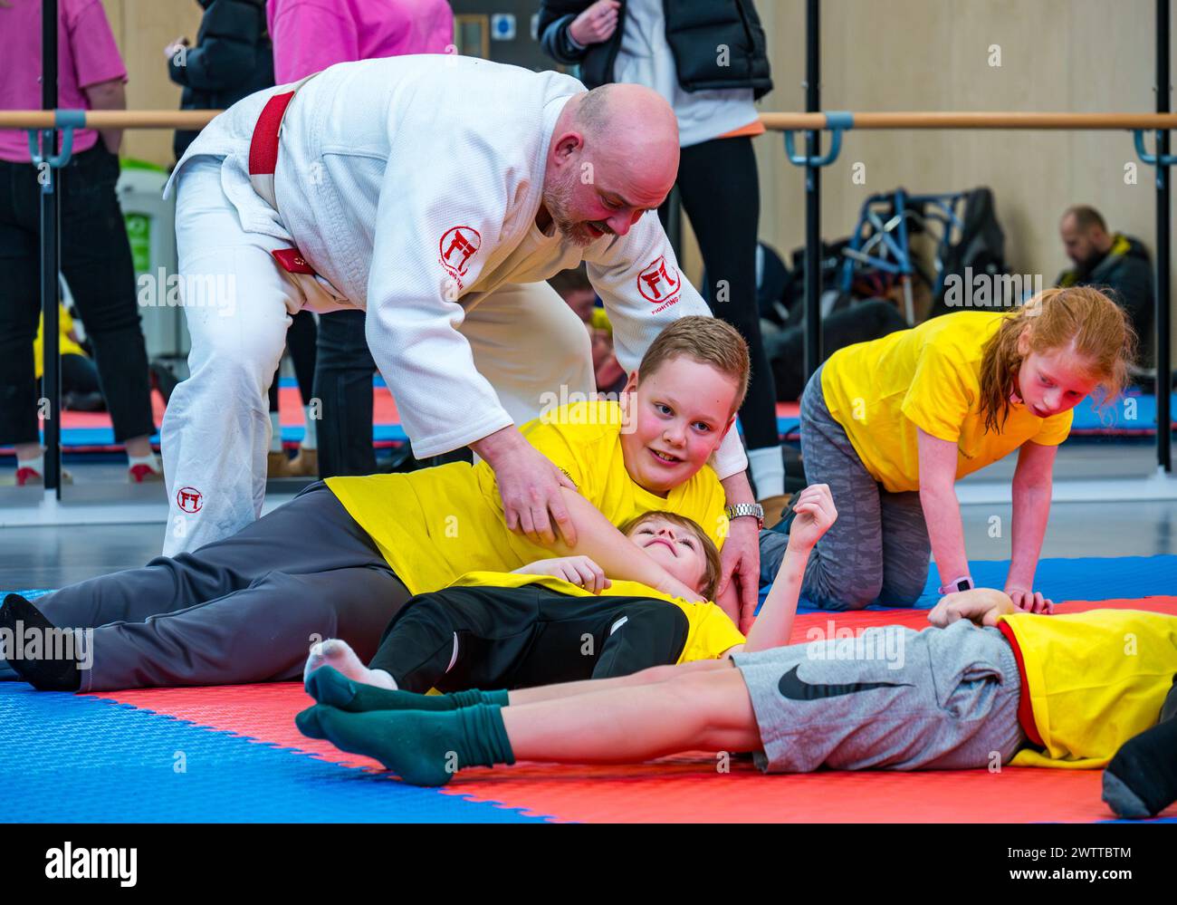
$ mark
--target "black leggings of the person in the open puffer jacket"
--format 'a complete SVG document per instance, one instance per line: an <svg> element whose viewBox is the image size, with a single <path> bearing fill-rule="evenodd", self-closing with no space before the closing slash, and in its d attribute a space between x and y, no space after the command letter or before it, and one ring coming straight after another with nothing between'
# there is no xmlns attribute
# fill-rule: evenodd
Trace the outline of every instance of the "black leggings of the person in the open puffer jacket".
<svg viewBox="0 0 1177 905"><path fill-rule="evenodd" d="M705 293L711 313L734 326L747 341L752 379L739 410L744 440L749 449L777 447L780 444L777 390L764 354L756 303L760 187L752 139L716 138L684 147L677 184L711 284ZM669 213L665 204L658 210L663 226ZM717 289L722 280L726 283L726 300L719 298Z"/></svg>

